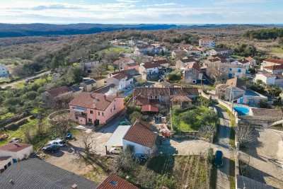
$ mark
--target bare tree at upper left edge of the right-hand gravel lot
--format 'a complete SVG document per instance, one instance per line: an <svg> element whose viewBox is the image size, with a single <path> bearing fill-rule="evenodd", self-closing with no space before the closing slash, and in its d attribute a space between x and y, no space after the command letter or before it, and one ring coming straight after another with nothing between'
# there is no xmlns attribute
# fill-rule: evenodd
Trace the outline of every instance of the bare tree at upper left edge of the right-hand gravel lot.
<svg viewBox="0 0 283 189"><path fill-rule="evenodd" d="M238 137L238 142L240 146L246 142L253 142L253 128L250 125L241 125L235 127L236 136Z"/></svg>

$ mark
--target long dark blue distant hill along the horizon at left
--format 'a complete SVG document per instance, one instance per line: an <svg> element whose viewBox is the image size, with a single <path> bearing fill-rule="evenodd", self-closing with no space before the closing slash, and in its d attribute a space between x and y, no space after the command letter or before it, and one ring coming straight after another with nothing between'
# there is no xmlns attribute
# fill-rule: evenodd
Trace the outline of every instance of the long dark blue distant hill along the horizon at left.
<svg viewBox="0 0 283 189"><path fill-rule="evenodd" d="M112 30L162 30L175 28L177 25L168 24L91 24L78 23L69 25L56 25L44 23L32 24L7 24L0 23L0 38L25 37L42 35L77 35L100 33Z"/></svg>

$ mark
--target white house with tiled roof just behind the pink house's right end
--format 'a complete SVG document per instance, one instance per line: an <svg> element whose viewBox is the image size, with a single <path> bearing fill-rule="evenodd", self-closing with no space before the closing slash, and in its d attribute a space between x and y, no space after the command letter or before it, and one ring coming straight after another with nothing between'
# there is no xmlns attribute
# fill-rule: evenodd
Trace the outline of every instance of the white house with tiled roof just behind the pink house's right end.
<svg viewBox="0 0 283 189"><path fill-rule="evenodd" d="M115 74L115 73L114 73ZM115 84L118 88L125 88L134 84L134 78L125 73L115 74L107 79L107 85Z"/></svg>

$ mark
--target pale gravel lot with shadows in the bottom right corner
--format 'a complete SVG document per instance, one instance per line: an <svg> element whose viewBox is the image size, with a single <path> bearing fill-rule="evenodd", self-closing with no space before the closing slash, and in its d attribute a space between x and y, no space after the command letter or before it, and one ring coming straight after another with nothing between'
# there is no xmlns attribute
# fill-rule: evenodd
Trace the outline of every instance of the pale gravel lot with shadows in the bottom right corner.
<svg viewBox="0 0 283 189"><path fill-rule="evenodd" d="M283 132L257 128L254 135L255 141L243 150L246 155L241 155L250 164L248 178L283 188Z"/></svg>

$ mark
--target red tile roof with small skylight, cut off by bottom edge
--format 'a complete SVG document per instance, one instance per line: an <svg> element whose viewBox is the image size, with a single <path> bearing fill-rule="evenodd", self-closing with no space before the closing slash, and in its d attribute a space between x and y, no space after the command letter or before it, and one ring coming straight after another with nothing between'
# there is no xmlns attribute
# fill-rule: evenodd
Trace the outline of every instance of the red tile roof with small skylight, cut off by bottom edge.
<svg viewBox="0 0 283 189"><path fill-rule="evenodd" d="M103 181L100 185L98 185L97 189L139 189L137 186L125 181L119 176L111 173L108 178Z"/></svg>

